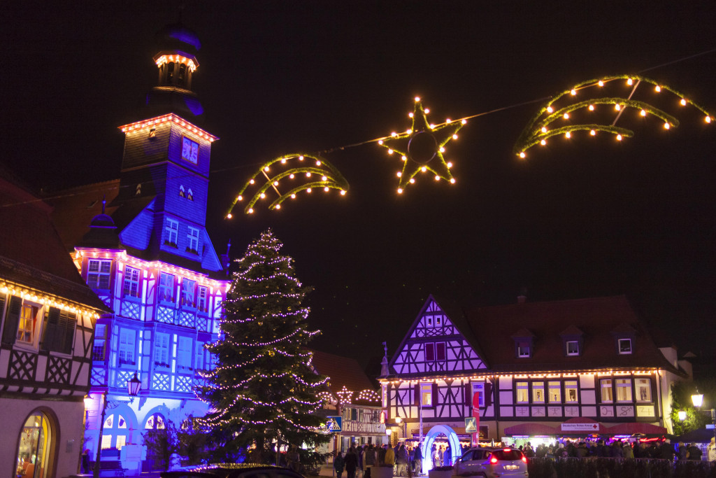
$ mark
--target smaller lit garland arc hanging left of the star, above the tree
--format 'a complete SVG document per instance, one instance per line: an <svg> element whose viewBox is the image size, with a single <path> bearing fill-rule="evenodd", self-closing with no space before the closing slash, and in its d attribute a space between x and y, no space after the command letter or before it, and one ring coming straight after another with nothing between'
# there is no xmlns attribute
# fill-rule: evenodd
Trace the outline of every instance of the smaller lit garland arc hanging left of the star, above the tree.
<svg viewBox="0 0 716 478"><path fill-rule="evenodd" d="M311 154L287 154L263 163L261 168L253 173L231 204L226 214L227 219L231 219L236 204L244 201L244 193L263 179L266 182L258 187L243 209L246 214L253 213L256 202L267 199L271 191L275 193L276 199L269 204L269 209L281 209L281 204L286 199L295 199L296 194L301 191L311 193L314 188L323 188L326 192L338 189L343 196L349 187L343 175L324 158ZM282 193L279 187L285 192Z"/></svg>

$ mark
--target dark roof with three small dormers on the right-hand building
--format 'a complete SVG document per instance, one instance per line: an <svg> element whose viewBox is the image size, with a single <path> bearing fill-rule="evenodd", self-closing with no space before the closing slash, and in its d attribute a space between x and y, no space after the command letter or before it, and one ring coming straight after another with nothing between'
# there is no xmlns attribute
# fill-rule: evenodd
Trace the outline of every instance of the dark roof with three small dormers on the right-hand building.
<svg viewBox="0 0 716 478"><path fill-rule="evenodd" d="M495 372L658 367L680 374L654 345L623 295L480 307L468 311L467 318ZM561 333L571 327L584 331L581 355L564 353ZM534 334L528 358L515 354L514 332L522 328ZM633 331L631 354L618 353L614 330Z"/></svg>

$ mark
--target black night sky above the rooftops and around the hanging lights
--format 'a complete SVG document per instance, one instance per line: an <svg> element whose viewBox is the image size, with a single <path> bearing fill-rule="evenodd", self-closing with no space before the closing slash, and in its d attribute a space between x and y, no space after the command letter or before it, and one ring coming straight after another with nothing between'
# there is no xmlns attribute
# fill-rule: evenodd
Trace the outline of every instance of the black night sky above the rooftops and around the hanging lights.
<svg viewBox="0 0 716 478"><path fill-rule="evenodd" d="M177 19L176 5L1 6L2 161L49 189L116 178L117 126L143 119L153 36ZM642 72L716 112L716 2L185 6L202 41L200 126L221 138L211 159L214 245L222 253L231 239L240 255L273 228L315 287L320 348L365 363L384 340L395 350L430 293L470 307L526 290L531 301L627 294L680 350L711 353L716 123L662 95L652 99L679 128L632 110L618 125L635 135L621 143L554 138L527 161L512 146L538 100L604 75ZM398 196L400 165L367 144L325 154L349 181L347 196L314 193L222 219L263 161L405 130L416 95L436 123L479 115L448 144L454 186L419 178Z"/></svg>

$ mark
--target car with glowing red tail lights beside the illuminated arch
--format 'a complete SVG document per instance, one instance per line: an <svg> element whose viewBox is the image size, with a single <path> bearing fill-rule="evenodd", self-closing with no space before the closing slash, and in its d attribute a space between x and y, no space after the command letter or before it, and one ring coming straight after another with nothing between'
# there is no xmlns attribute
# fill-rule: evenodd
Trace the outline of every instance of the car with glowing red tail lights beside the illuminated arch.
<svg viewBox="0 0 716 478"><path fill-rule="evenodd" d="M471 448L455 463L458 476L526 477L527 458L516 448Z"/></svg>

